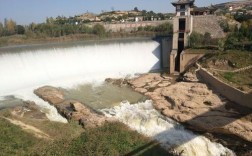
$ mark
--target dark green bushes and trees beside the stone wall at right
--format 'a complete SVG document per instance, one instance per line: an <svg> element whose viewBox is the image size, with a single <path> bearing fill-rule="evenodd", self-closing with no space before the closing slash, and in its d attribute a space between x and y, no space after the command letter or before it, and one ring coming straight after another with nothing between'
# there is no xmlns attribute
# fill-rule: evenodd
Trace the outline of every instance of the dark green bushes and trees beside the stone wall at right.
<svg viewBox="0 0 252 156"><path fill-rule="evenodd" d="M233 15L233 20L239 25L230 25L228 20L222 20L220 26L226 33L226 38L213 39L210 33L204 35L193 32L189 37L191 48L212 48L225 50L252 51L252 17L249 15Z"/></svg>

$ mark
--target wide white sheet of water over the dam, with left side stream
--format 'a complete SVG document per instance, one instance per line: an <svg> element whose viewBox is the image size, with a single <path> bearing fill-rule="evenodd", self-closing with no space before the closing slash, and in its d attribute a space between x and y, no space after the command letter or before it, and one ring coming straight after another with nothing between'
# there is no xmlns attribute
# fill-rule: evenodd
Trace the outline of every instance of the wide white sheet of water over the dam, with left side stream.
<svg viewBox="0 0 252 156"><path fill-rule="evenodd" d="M73 87L160 69L160 44L145 40L27 48L0 52L0 99L14 95L36 102L50 120L66 122L48 103L33 94L44 86ZM0 102L1 103L1 102Z"/></svg>

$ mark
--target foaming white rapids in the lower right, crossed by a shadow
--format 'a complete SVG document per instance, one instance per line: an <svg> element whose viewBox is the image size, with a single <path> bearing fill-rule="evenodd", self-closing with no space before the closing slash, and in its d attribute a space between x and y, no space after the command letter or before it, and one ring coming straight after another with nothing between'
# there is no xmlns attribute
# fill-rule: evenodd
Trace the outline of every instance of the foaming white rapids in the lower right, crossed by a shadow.
<svg viewBox="0 0 252 156"><path fill-rule="evenodd" d="M159 141L166 149L183 156L235 155L221 144L185 130L177 122L164 117L152 106L152 101L138 104L121 103L111 109L103 109L108 117L115 117L139 133Z"/></svg>

